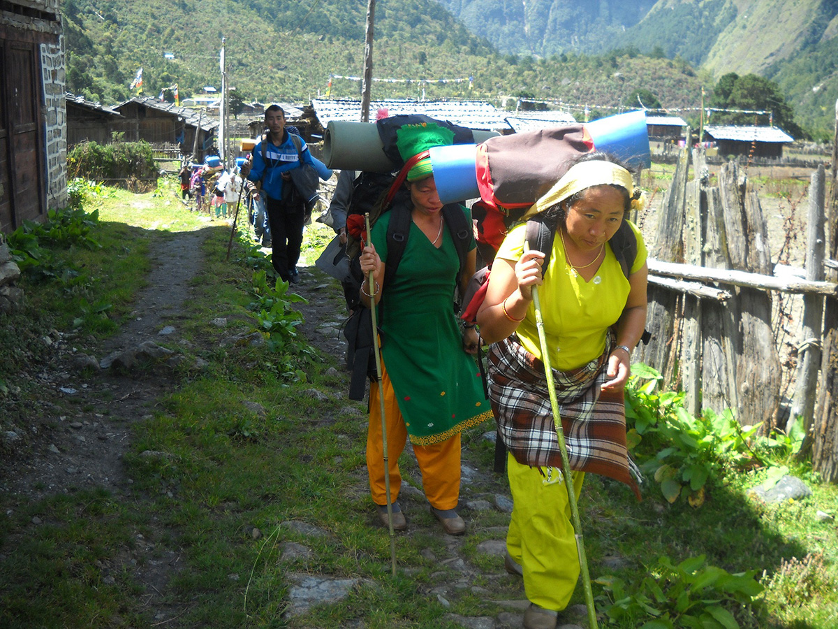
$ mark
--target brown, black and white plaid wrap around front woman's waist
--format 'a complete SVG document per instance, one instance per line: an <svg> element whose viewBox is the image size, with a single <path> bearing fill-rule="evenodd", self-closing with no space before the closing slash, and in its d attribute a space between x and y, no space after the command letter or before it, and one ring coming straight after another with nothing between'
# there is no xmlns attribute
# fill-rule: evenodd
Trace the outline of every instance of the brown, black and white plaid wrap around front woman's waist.
<svg viewBox="0 0 838 629"><path fill-rule="evenodd" d="M626 448L622 391L601 391L608 381L608 336L602 356L571 372L553 370L561 427L572 470L608 476L640 491L637 467ZM489 347L489 400L498 433L521 465L561 470L561 451L550 406L544 363L515 335Z"/></svg>

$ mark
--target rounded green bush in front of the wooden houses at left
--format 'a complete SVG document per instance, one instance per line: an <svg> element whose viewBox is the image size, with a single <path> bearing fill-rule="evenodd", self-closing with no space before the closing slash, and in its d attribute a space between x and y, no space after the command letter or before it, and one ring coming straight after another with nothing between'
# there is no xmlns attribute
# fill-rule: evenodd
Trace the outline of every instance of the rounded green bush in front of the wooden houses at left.
<svg viewBox="0 0 838 629"><path fill-rule="evenodd" d="M117 142L79 144L67 157L70 177L94 179L157 179L151 144Z"/></svg>

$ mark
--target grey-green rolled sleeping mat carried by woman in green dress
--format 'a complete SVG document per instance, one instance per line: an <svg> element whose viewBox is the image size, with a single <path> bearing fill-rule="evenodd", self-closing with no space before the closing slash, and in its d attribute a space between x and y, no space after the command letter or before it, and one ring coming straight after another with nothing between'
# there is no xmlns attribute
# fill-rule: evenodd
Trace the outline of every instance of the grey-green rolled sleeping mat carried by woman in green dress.
<svg viewBox="0 0 838 629"><path fill-rule="evenodd" d="M476 144L498 136L494 131L472 130ZM474 144L472 146L472 151ZM375 122L332 120L323 135L323 162L330 169L363 170L391 173L401 164L393 164L384 153L384 145Z"/></svg>

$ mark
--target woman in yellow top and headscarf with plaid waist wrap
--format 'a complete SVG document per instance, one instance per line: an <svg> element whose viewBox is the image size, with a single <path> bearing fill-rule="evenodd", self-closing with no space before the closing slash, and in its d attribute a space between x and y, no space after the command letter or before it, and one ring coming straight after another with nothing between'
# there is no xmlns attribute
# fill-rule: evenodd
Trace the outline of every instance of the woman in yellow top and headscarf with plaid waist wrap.
<svg viewBox="0 0 838 629"><path fill-rule="evenodd" d="M577 496L586 471L634 488L626 450L623 387L646 320L646 248L625 219L639 197L632 175L603 153L587 153L530 208L553 223L551 257L525 250L525 223L494 258L478 325L489 347L489 398L509 450L515 504L506 569L530 600L526 629L553 629L580 572L569 497L535 325L538 287L561 423ZM623 268L610 241L629 228L634 260Z"/></svg>

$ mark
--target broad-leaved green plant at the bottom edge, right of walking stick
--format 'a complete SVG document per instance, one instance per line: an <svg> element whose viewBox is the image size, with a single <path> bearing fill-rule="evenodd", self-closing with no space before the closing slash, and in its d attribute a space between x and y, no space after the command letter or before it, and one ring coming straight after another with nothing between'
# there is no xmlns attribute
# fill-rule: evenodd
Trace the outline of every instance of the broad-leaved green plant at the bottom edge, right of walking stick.
<svg viewBox="0 0 838 629"><path fill-rule="evenodd" d="M705 555L677 565L661 557L639 582L603 577L597 583L610 621L634 621L639 629L738 629L737 614L753 616L754 597L763 591L755 574L729 574L708 565Z"/></svg>

